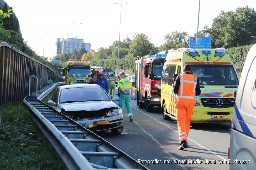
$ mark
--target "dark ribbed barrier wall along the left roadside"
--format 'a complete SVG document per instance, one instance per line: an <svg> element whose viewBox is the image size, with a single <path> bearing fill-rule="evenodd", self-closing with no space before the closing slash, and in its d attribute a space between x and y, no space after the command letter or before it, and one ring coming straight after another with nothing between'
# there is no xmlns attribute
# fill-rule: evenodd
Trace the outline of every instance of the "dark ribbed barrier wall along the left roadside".
<svg viewBox="0 0 256 170"><path fill-rule="evenodd" d="M29 78L38 78L38 90L48 85L48 78L62 82L63 78L52 69L26 55L8 43L0 43L0 105L21 101L28 95ZM36 79L31 78L30 93L36 90Z"/></svg>

